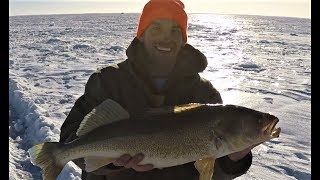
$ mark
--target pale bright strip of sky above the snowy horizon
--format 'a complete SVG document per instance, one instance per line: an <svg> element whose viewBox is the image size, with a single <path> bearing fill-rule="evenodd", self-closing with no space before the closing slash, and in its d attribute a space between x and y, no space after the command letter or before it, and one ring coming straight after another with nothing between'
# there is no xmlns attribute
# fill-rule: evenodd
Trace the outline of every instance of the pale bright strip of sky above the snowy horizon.
<svg viewBox="0 0 320 180"><path fill-rule="evenodd" d="M9 0L9 15L141 13L148 0ZM311 0L182 0L187 13L311 18Z"/></svg>

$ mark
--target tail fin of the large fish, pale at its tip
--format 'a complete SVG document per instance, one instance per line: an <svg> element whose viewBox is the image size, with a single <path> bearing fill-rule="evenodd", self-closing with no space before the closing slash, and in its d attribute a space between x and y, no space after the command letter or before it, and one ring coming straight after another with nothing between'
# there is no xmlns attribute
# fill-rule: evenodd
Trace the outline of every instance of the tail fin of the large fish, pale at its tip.
<svg viewBox="0 0 320 180"><path fill-rule="evenodd" d="M28 150L31 163L42 169L44 180L56 180L64 165L56 161L53 152L57 149L58 142L37 144Z"/></svg>

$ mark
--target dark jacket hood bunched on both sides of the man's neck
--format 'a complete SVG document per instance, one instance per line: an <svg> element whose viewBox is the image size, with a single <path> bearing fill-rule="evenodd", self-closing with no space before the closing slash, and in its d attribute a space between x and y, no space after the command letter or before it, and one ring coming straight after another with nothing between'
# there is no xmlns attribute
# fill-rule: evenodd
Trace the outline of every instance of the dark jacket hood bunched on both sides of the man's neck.
<svg viewBox="0 0 320 180"><path fill-rule="evenodd" d="M139 72L146 73L146 63L148 63L146 52L142 42L134 38L126 50L129 61L134 64ZM185 77L202 72L208 65L207 58L203 53L189 44L181 48L177 56L177 62L170 76Z"/></svg>

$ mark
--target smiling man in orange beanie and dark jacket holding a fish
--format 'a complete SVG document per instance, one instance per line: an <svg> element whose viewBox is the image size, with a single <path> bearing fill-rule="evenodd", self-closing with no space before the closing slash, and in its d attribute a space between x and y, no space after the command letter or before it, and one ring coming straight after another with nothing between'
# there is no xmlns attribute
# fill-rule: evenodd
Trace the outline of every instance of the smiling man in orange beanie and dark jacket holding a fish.
<svg viewBox="0 0 320 180"><path fill-rule="evenodd" d="M83 117L110 98L121 104L130 116L143 113L145 107L179 105L190 102L222 103L219 92L201 78L207 66L204 54L187 44L187 14L179 0L150 0L140 16L137 36L126 54L128 59L93 73L84 94L76 101L61 127L60 142L77 138ZM233 153L215 161L216 179L232 179L244 174L252 162L251 149ZM164 169L152 164L138 165L143 154L124 154L112 164L91 173L82 171L82 179L197 179L193 162ZM83 159L74 162L84 169Z"/></svg>

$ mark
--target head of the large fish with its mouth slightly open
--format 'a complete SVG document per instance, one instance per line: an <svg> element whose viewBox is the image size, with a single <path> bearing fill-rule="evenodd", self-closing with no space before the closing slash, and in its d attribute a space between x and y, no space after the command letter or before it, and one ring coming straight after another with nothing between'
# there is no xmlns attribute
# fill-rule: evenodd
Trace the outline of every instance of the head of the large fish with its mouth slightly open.
<svg viewBox="0 0 320 180"><path fill-rule="evenodd" d="M276 116L254 109L225 105L216 114L214 132L223 137L232 150L245 149L277 138L281 131L280 127L276 127L279 122Z"/></svg>

